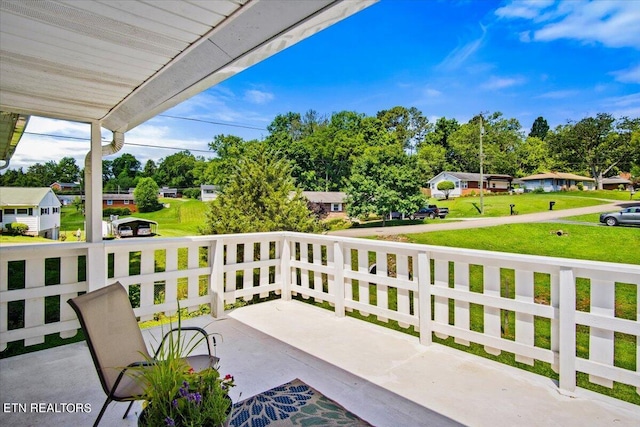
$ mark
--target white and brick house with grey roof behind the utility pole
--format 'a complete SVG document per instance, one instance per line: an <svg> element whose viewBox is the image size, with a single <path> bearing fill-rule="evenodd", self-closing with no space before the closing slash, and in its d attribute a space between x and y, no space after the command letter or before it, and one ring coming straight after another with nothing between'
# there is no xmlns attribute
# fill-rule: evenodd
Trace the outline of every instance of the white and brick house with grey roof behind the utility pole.
<svg viewBox="0 0 640 427"><path fill-rule="evenodd" d="M449 193L449 197L460 197L480 192L480 174L468 172L440 172L429 180L428 195L437 199L444 199L444 192L438 190L438 184L442 181L451 181L455 188ZM504 193L511 189L513 177L511 175L483 174L482 188L485 192Z"/></svg>

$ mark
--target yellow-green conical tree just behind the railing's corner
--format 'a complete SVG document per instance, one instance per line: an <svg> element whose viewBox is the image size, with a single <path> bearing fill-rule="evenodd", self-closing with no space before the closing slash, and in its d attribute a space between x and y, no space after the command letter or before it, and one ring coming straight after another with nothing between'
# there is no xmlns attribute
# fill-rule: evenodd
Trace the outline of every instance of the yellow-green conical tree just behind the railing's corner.
<svg viewBox="0 0 640 427"><path fill-rule="evenodd" d="M263 146L243 156L231 172L209 203L202 234L318 230L286 159Z"/></svg>

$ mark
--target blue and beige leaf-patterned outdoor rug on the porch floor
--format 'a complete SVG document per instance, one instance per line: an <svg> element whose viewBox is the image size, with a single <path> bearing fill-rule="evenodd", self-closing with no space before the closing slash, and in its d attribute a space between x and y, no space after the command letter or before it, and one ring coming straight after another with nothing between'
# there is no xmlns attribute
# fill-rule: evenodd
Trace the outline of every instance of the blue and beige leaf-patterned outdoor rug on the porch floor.
<svg viewBox="0 0 640 427"><path fill-rule="evenodd" d="M371 426L299 379L233 405L233 427Z"/></svg>

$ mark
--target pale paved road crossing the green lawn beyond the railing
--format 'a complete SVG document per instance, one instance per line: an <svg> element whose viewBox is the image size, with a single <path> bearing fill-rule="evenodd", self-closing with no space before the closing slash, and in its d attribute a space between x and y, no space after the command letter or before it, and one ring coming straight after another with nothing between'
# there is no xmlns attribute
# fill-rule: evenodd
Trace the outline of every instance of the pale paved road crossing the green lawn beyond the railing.
<svg viewBox="0 0 640 427"><path fill-rule="evenodd" d="M632 202L633 203L633 202ZM637 203L637 202L636 202ZM497 218L473 218L455 220L429 220L427 224L400 225L395 227L375 227L375 228L350 228L348 230L331 231L329 234L348 237L368 237L368 236L392 236L396 234L425 233L428 231L460 230L463 228L493 227L495 225L515 224L522 222L542 222L553 221L567 216L584 215L590 213L600 213L616 211L629 204L629 202L616 201L605 205L589 206L586 208L562 209L555 211L545 211L526 215L502 216Z"/></svg>

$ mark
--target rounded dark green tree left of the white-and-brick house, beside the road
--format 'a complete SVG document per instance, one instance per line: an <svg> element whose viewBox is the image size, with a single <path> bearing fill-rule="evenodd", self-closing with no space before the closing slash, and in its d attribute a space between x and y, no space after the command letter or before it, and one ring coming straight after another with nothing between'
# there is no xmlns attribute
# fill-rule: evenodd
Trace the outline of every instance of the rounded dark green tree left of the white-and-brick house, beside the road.
<svg viewBox="0 0 640 427"><path fill-rule="evenodd" d="M424 206L415 156L398 144L369 147L354 164L347 186L347 213L352 217L389 212L409 214Z"/></svg>

